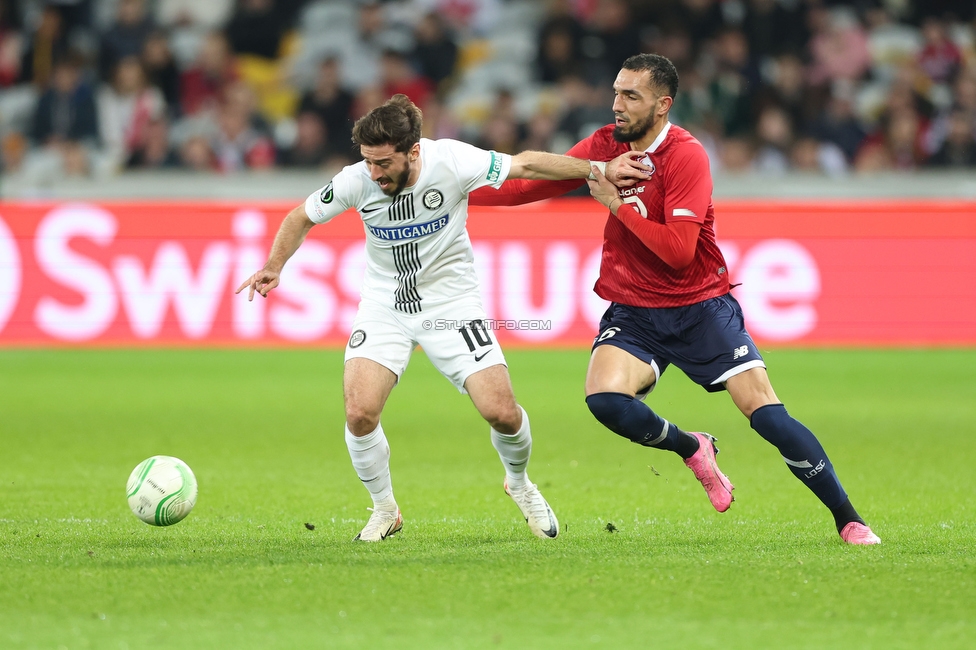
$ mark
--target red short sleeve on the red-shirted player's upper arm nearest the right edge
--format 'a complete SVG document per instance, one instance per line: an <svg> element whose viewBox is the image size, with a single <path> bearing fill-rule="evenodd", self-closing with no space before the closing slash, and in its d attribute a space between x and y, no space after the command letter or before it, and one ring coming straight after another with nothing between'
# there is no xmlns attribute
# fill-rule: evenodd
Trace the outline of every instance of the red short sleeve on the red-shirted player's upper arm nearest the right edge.
<svg viewBox="0 0 976 650"><path fill-rule="evenodd" d="M664 220L705 222L712 202L712 174L708 154L689 143L672 154L664 186Z"/></svg>

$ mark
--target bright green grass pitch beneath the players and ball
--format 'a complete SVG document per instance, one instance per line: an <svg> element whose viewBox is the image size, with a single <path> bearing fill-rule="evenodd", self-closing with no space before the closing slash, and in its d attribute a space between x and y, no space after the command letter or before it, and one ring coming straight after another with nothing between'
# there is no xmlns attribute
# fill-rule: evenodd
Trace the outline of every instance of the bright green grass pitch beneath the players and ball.
<svg viewBox="0 0 976 650"><path fill-rule="evenodd" d="M0 648L974 647L976 350L765 356L881 546L842 544L728 397L674 369L650 403L718 436L729 512L590 416L585 351L510 350L563 529L535 539L487 425L418 352L384 416L404 528L366 545L341 352L2 351ZM170 528L124 498L154 454L200 484Z"/></svg>

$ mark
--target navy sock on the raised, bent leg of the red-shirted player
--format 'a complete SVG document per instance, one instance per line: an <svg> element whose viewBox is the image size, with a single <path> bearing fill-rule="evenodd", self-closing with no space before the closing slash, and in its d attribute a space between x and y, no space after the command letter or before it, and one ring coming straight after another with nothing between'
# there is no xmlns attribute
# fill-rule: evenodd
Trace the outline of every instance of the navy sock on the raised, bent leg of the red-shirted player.
<svg viewBox="0 0 976 650"><path fill-rule="evenodd" d="M645 447L667 449L682 458L698 451L698 439L624 393L594 393L586 398L590 412L619 436Z"/></svg>

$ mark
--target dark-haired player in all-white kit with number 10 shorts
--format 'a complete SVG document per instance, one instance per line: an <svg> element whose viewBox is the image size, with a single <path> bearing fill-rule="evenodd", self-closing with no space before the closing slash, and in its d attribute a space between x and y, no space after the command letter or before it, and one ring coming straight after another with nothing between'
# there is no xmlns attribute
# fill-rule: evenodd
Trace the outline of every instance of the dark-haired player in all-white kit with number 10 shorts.
<svg viewBox="0 0 976 650"><path fill-rule="evenodd" d="M501 348L484 327L465 229L467 199L469 192L498 188L507 178L586 178L591 166L542 152L510 156L456 140L422 139L421 125L420 109L404 95L357 121L353 141L363 161L345 167L285 217L264 268L237 292L249 287L249 300L255 292L267 297L309 229L355 208L366 229L366 276L346 346L345 438L353 467L373 499L373 513L355 539L381 541L403 526L380 415L417 345L468 393L491 426L492 445L505 467L505 492L529 529L537 537L554 538L556 515L526 474L529 418L515 401ZM626 185L644 170L635 158L621 156L607 163L607 173ZM456 325L432 327L439 320Z"/></svg>

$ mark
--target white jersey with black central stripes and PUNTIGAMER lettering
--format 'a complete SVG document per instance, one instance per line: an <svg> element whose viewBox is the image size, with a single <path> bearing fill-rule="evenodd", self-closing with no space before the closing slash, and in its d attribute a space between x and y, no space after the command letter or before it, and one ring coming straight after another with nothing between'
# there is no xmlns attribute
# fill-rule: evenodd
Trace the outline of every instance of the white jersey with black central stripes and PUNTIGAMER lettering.
<svg viewBox="0 0 976 650"><path fill-rule="evenodd" d="M478 292L465 223L468 193L508 177L512 159L457 140L420 141L420 177L395 197L383 193L365 162L345 167L305 201L325 223L355 208L366 229L362 297L415 314Z"/></svg>

